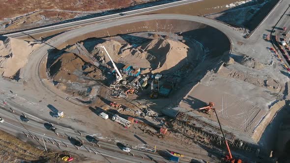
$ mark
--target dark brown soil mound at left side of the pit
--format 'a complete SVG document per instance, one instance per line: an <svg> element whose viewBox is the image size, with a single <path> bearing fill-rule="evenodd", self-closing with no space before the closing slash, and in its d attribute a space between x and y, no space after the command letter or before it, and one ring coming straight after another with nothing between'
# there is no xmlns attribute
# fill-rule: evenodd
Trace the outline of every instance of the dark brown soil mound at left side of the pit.
<svg viewBox="0 0 290 163"><path fill-rule="evenodd" d="M60 83L101 80L102 72L77 54L64 53L51 65L50 76Z"/></svg>

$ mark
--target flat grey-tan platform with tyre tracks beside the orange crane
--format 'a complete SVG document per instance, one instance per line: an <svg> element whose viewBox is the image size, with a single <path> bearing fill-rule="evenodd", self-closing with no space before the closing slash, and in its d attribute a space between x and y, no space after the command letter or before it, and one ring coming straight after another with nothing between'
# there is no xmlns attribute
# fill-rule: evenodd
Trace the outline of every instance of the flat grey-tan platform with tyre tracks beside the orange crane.
<svg viewBox="0 0 290 163"><path fill-rule="evenodd" d="M213 111L209 115L198 111L210 101L215 103L214 108L225 130L237 138L253 141L251 136L275 97L266 88L209 73L182 99L179 107L193 110L194 114L218 127ZM200 119L204 121L204 118Z"/></svg>

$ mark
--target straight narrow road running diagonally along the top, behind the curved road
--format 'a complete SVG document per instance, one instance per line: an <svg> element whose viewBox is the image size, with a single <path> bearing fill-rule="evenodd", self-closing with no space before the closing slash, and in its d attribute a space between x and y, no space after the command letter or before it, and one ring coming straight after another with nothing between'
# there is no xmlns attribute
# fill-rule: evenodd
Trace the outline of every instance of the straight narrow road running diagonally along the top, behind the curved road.
<svg viewBox="0 0 290 163"><path fill-rule="evenodd" d="M92 23L98 23L99 21L108 21L116 18L124 18L128 16L135 16L139 14L145 14L146 12L154 11L154 10L159 10L163 8L168 8L168 7L173 7L173 6L178 6L182 4L187 4L191 2L196 2L196 1L202 1L202 0L179 0L175 2L170 2L166 4L160 4L160 5L155 5L151 7L145 7L141 9L136 9L136 10L130 10L130 11L125 11L122 13L116 13L116 14L111 14L111 15L106 15L106 16L100 16L96 18L90 18L90 19L85 19L85 20L80 20L80 21L73 21L69 23L64 23L64 24L59 24L59 25L54 25L54 26L49 26L49 27L40 27L36 29L30 29L30 30L25 30L21 32L12 32L9 34L4 34L3 36L7 37L21 37L21 36L26 36L27 34L35 34L35 33L43 33L43 32L48 32L52 30L58 30L62 28L75 28L75 27L81 27L81 26L87 26ZM69 29L67 28L67 29Z"/></svg>

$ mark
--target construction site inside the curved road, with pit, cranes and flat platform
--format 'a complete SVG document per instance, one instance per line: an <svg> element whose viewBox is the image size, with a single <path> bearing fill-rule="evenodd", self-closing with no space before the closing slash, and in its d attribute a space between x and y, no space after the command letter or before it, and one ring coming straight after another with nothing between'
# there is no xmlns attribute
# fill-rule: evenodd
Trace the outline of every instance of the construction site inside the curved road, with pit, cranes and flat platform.
<svg viewBox="0 0 290 163"><path fill-rule="evenodd" d="M267 122L285 104L275 103L284 83L262 74L268 63L229 55L231 43L222 32L187 24L192 28L87 38L49 52L49 78L113 121L120 118L123 127L138 122L145 133L161 138L187 137L212 146L224 142L216 111L232 148L259 153Z"/></svg>

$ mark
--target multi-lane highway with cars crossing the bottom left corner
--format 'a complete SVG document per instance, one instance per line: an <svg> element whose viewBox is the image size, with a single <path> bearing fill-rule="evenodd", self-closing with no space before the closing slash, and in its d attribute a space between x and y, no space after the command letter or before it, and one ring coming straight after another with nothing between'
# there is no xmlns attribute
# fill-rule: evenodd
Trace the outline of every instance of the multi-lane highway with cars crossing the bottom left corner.
<svg viewBox="0 0 290 163"><path fill-rule="evenodd" d="M21 136L22 138L27 136L27 139L33 141L39 146L42 146L43 148L45 147L45 143L46 146L50 146L52 148L59 148L61 150L85 151L88 154L91 153L89 157L93 156L92 158L95 157L97 159L100 159L100 156L110 157L119 161L125 161L126 163L151 163L151 159L154 159L155 161L167 162L167 160L164 159L162 156L135 149L131 149L131 151L129 152L130 155L128 155L128 153L123 152L120 147L102 141L99 141L97 145L93 145L93 143L89 142L89 140L86 138L86 136L92 135L88 135L86 133L82 133L81 135L77 131L56 124L53 125L57 128L57 131L53 132L51 130L48 130L48 128L44 126L44 123L48 122L41 121L40 119L38 119L40 121L35 121L34 119L27 116L29 122L23 122L20 118L22 112L13 109L14 113L12 113L11 110L9 111L7 109L4 109L5 107L7 108L9 106L3 104L0 105L0 114L1 117L5 120L5 122L0 123L0 129L8 133L17 133L17 135ZM34 137L34 139L32 139L32 137ZM44 141L42 140L42 137ZM69 141L69 137L73 137L79 141L83 141L84 146L74 146ZM100 147L98 145L100 145ZM181 161L180 163L185 162Z"/></svg>

